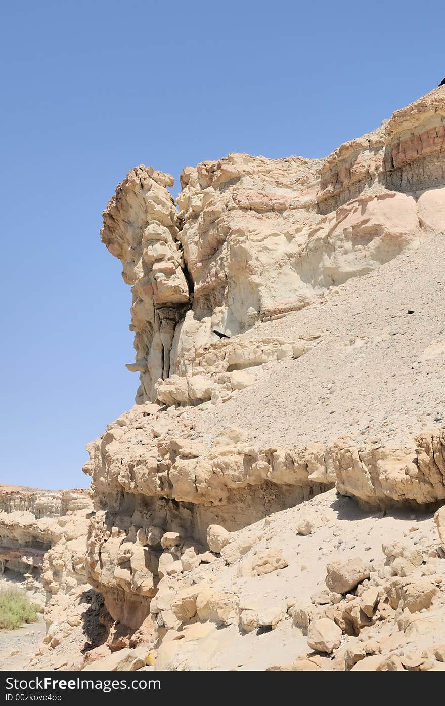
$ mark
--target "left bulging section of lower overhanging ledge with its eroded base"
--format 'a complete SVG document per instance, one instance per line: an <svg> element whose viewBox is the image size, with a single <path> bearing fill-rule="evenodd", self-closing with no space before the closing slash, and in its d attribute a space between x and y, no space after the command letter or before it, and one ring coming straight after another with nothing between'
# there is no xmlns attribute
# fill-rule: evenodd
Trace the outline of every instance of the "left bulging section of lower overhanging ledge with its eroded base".
<svg viewBox="0 0 445 706"><path fill-rule="evenodd" d="M260 452L239 429L209 446L153 405L136 405L88 450L97 509L88 578L111 615L133 629L160 580L214 561L207 532L215 522L238 530L334 483L320 448ZM226 551L213 535L209 547Z"/></svg>

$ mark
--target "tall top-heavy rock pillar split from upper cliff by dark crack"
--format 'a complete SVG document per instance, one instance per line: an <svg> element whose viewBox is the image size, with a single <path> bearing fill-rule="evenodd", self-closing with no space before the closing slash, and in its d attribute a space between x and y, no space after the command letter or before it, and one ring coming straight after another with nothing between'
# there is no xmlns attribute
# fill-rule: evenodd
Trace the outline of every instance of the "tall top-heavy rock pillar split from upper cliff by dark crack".
<svg viewBox="0 0 445 706"><path fill-rule="evenodd" d="M133 287L136 362L128 368L140 373L138 401L152 399L154 383L169 376L176 325L190 304L178 212L166 186L173 186L169 174L136 167L103 214L102 242L121 260L123 280Z"/></svg>

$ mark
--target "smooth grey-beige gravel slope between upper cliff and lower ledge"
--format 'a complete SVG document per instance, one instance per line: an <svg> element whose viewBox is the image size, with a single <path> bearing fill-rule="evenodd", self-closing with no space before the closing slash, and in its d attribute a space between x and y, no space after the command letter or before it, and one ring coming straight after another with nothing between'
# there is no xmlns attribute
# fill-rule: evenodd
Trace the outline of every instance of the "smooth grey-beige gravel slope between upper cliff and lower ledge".
<svg viewBox="0 0 445 706"><path fill-rule="evenodd" d="M302 357L269 364L224 405L205 405L205 414L187 410L183 419L193 418L206 436L240 426L263 447L345 433L357 441L396 441L442 426L444 256L444 237L431 237L376 272L333 287L322 304L257 325L258 337L263 330L286 340L320 337Z"/></svg>

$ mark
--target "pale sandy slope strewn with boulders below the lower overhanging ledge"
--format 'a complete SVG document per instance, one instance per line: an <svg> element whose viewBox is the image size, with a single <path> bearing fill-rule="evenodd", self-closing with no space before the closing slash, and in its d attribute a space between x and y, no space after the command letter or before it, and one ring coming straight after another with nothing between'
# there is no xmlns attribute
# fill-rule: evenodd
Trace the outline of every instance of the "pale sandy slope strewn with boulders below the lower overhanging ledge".
<svg viewBox="0 0 445 706"><path fill-rule="evenodd" d="M382 517L334 490L232 532L212 563L159 582L156 669L440 669L440 544L432 513Z"/></svg>

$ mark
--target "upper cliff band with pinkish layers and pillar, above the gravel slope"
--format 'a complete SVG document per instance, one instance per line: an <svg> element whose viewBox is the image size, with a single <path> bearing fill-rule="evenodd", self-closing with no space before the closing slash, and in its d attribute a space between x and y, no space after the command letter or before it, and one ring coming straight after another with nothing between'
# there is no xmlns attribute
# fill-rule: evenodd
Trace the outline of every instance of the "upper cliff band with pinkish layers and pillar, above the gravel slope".
<svg viewBox="0 0 445 706"><path fill-rule="evenodd" d="M433 91L324 160L186 167L179 210L169 174L133 169L102 240L133 287L137 401L197 404L252 384L257 366L307 345L240 334L443 232L443 99Z"/></svg>

